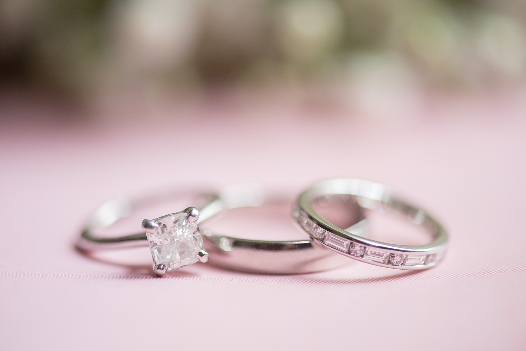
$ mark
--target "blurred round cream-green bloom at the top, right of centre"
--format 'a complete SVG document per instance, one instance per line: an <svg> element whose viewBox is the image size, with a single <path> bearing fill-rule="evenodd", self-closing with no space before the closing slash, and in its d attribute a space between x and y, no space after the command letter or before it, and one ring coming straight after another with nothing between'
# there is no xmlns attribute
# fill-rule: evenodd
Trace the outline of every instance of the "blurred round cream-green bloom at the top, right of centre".
<svg viewBox="0 0 526 351"><path fill-rule="evenodd" d="M331 54L340 44L345 18L332 0L289 0L277 16L279 44L296 61L315 61Z"/></svg>

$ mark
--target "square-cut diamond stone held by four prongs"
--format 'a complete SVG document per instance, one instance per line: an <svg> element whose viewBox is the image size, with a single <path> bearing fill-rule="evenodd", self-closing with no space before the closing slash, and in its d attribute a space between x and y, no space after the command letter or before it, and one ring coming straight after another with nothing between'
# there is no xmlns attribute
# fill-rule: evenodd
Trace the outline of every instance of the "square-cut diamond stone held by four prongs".
<svg viewBox="0 0 526 351"><path fill-rule="evenodd" d="M198 261L203 239L197 223L188 221L186 212L168 214L152 222L158 228L146 232L146 236L156 265L163 263L170 271Z"/></svg>

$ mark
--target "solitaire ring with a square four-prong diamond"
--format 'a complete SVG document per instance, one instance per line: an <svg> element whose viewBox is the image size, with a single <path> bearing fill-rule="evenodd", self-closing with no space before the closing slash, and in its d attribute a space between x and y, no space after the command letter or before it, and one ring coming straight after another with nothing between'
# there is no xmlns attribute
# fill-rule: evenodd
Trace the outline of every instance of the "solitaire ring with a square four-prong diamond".
<svg viewBox="0 0 526 351"><path fill-rule="evenodd" d="M142 233L113 237L96 233L114 224L117 220L126 218L132 211L140 208L141 204L151 204L151 200L131 202L119 198L100 206L80 235L77 242L78 249L93 251L149 245L154 261L153 270L158 276L198 261L207 262L209 254L203 248L198 223L221 210L218 195L201 195L198 202L205 203L201 210L196 207L188 207L184 211L167 214L153 220L145 219L141 225L144 230ZM155 201L157 200L154 200L154 203Z"/></svg>

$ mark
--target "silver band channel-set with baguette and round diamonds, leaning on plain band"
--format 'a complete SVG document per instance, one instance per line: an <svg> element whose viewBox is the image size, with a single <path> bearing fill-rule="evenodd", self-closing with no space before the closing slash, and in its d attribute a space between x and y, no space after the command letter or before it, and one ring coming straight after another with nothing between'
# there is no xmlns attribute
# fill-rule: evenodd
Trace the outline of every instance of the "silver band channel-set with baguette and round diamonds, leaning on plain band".
<svg viewBox="0 0 526 351"><path fill-rule="evenodd" d="M365 209L392 211L408 218L433 235L426 245L394 245L363 238L352 228L343 230L327 221L312 205L328 195L347 195ZM439 263L446 251L448 235L426 212L389 196L385 185L359 179L332 179L301 193L294 217L316 243L358 261L400 270L424 270Z"/></svg>

